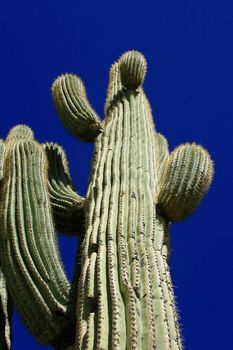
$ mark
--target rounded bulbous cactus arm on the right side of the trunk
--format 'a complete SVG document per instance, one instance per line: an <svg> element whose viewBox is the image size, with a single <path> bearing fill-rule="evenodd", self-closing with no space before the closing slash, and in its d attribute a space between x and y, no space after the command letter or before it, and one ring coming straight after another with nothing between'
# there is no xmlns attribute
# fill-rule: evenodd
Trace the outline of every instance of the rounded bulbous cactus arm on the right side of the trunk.
<svg viewBox="0 0 233 350"><path fill-rule="evenodd" d="M159 208L168 221L191 214L208 191L213 178L213 162L199 145L182 144L166 161L160 181Z"/></svg>

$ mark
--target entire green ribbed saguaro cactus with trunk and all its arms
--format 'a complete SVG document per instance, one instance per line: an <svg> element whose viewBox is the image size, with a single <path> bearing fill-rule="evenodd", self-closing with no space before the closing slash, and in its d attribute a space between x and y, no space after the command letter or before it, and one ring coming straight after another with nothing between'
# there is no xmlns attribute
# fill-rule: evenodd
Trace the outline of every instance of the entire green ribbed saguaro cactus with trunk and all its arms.
<svg viewBox="0 0 233 350"><path fill-rule="evenodd" d="M0 290L0 307L9 323L9 293L37 340L57 349L182 349L169 223L197 207L213 164L196 144L169 153L143 92L146 67L137 51L112 66L103 121L76 75L52 86L64 126L95 141L86 198L77 194L59 145L38 144L26 126L1 144L0 278L9 292ZM54 229L82 239L71 286ZM9 349L9 327L2 329Z"/></svg>

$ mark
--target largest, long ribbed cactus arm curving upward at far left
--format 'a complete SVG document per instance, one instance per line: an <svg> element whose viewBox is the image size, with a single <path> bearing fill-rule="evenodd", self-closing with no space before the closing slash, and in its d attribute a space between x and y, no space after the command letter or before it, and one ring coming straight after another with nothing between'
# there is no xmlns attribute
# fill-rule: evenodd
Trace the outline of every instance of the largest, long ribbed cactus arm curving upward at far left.
<svg viewBox="0 0 233 350"><path fill-rule="evenodd" d="M12 299L37 341L63 344L70 285L54 233L47 160L42 147L27 137L29 128L24 126L20 135L19 128L22 131L21 126L11 130L15 137L6 142L1 184L3 271Z"/></svg>

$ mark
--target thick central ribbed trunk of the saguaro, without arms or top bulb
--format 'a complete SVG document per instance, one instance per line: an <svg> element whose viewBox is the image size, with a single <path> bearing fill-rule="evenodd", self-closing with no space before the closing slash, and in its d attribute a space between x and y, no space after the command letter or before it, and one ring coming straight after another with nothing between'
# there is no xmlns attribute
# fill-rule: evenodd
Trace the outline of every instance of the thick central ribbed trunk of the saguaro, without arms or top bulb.
<svg viewBox="0 0 233 350"><path fill-rule="evenodd" d="M157 149L144 94L123 94L96 140L77 349L181 348L167 225L156 214Z"/></svg>

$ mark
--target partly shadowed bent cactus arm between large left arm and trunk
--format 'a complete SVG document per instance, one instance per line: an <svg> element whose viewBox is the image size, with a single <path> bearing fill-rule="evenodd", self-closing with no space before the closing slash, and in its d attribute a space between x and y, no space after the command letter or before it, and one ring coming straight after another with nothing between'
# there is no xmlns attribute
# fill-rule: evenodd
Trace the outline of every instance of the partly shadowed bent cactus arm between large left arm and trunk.
<svg viewBox="0 0 233 350"><path fill-rule="evenodd" d="M48 190L57 231L84 232L84 202L71 180L66 154L61 146L47 142L43 149L48 159Z"/></svg>

